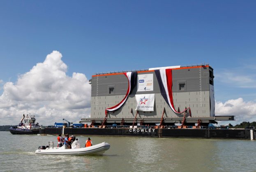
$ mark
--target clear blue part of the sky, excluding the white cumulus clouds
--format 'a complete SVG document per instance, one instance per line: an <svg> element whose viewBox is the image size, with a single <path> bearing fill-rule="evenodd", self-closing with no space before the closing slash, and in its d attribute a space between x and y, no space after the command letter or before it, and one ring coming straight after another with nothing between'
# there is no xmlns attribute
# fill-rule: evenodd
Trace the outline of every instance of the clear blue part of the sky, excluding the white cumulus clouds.
<svg viewBox="0 0 256 172"><path fill-rule="evenodd" d="M2 0L0 95L53 50L70 78L73 72L90 79L95 72L209 63L216 102L237 100L238 109L249 106L241 120L254 120L255 9L254 0Z"/></svg>

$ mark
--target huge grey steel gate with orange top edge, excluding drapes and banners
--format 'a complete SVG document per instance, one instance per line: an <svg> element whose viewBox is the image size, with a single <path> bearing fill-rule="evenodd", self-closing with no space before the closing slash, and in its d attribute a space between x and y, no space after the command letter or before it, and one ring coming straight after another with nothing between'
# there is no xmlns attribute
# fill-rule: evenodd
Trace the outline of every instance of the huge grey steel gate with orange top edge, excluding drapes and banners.
<svg viewBox="0 0 256 172"><path fill-rule="evenodd" d="M194 125L198 120L201 120L202 124L215 123L218 120L234 120L234 116L216 116L214 114L213 68L206 64L165 68L173 68L172 95L175 110L180 112L190 107L191 115L189 117L187 114L186 123ZM184 114L175 113L167 104L161 94L155 70L159 70L159 68L135 71L137 72L136 84L125 103L115 111L108 111L106 116L105 109L117 105L125 98L129 81L123 71L92 75L91 118L83 118L81 122L93 122L95 125L99 125L105 122L104 118L106 117L106 124L131 125L135 121L136 124L155 125L161 120L166 125L181 123ZM151 89L138 90L139 78L145 75L152 79ZM136 115L135 95L138 94L155 94L154 111L138 111L138 115Z"/></svg>

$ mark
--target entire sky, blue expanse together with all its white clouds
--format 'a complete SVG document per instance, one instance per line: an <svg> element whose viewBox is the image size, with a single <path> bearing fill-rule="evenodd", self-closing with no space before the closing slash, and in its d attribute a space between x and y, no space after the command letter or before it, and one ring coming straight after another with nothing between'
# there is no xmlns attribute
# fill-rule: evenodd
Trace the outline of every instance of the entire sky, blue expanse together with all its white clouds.
<svg viewBox="0 0 256 172"><path fill-rule="evenodd" d="M0 125L90 118L96 72L208 63L216 115L256 121L255 0L1 0Z"/></svg>

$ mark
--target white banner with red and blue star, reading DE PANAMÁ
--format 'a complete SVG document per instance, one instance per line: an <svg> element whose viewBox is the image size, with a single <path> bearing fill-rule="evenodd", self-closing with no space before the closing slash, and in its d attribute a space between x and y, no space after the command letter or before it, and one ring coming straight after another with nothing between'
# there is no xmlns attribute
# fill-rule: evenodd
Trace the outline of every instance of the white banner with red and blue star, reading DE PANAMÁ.
<svg viewBox="0 0 256 172"><path fill-rule="evenodd" d="M136 111L154 111L155 94L136 94Z"/></svg>

